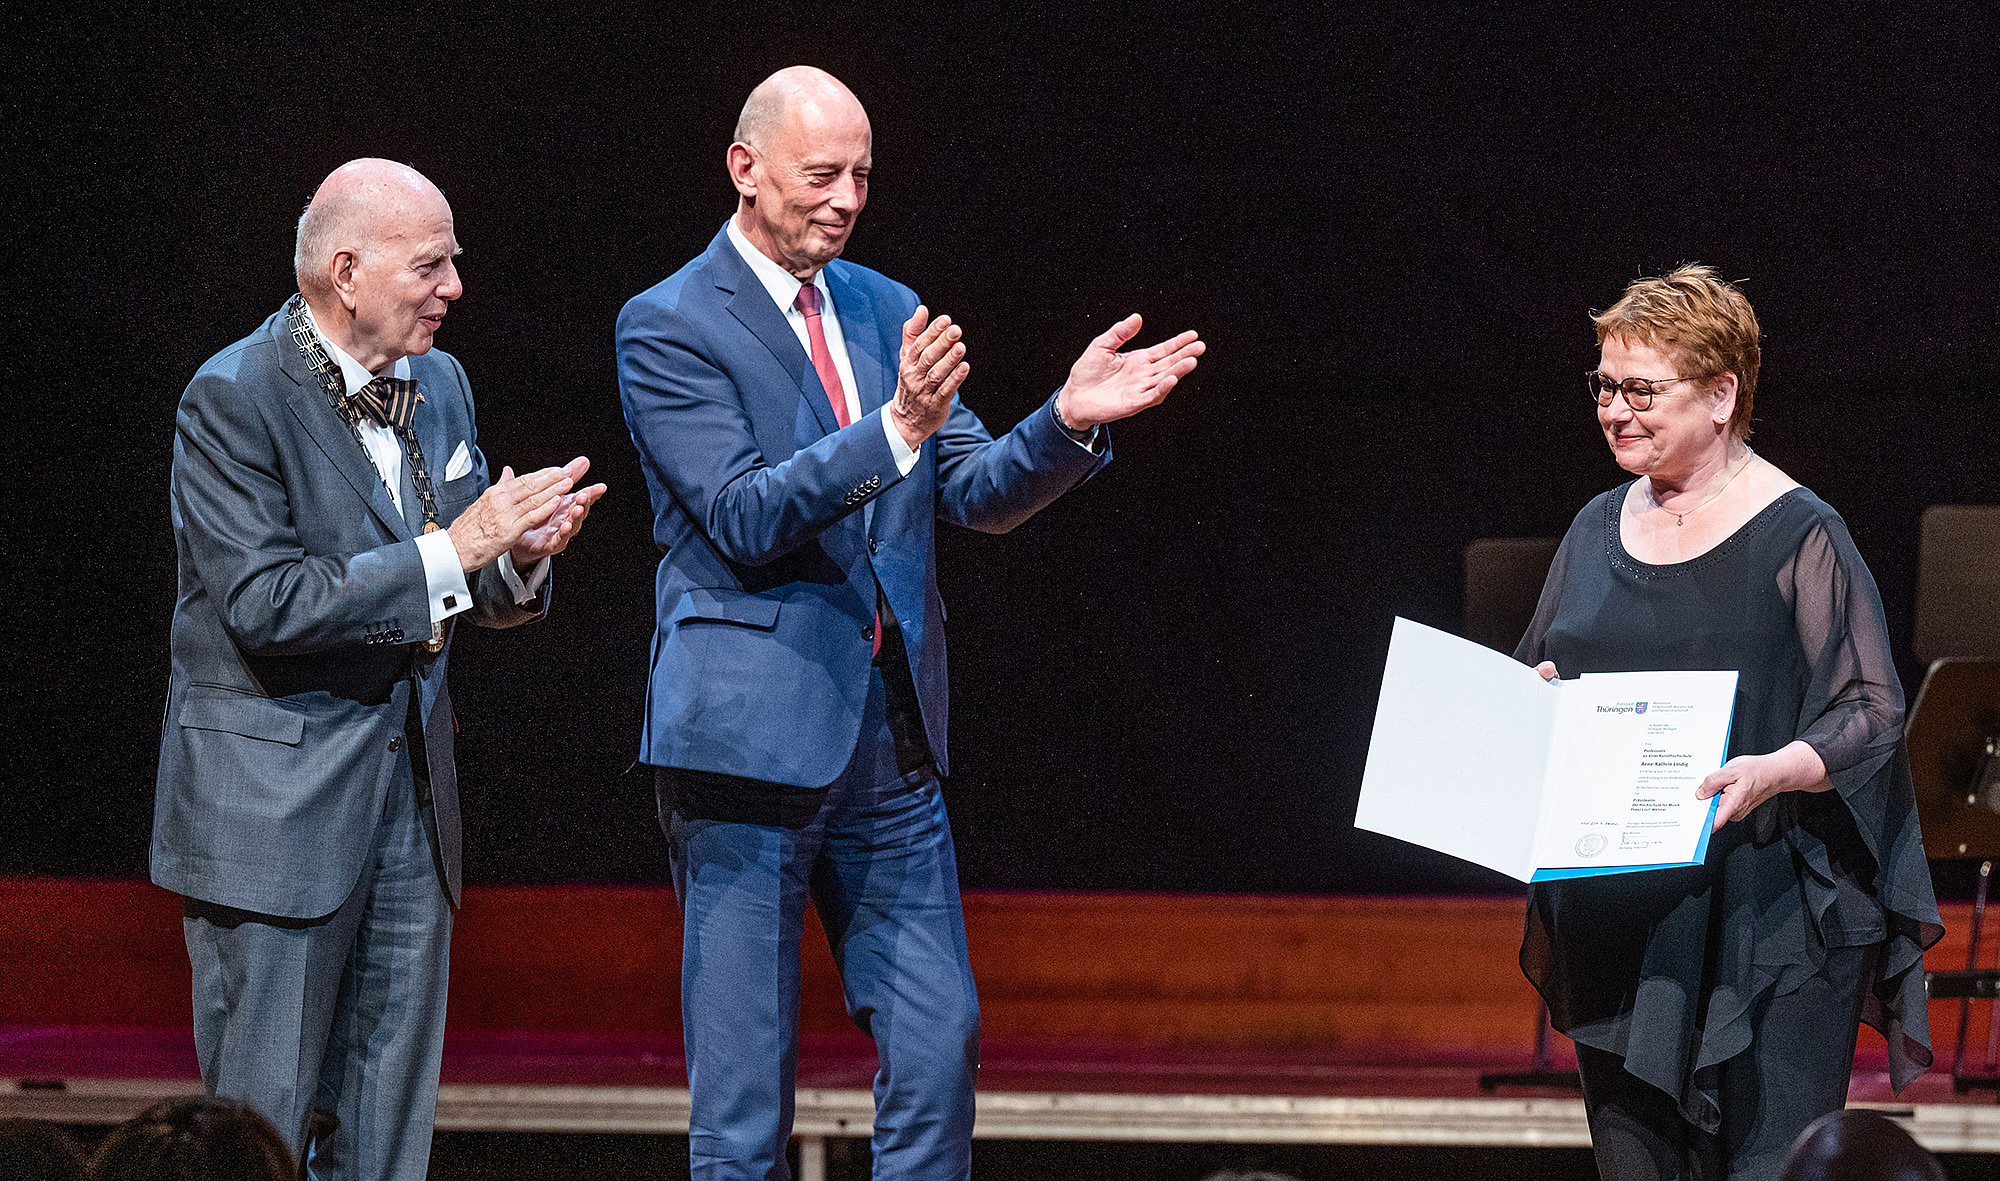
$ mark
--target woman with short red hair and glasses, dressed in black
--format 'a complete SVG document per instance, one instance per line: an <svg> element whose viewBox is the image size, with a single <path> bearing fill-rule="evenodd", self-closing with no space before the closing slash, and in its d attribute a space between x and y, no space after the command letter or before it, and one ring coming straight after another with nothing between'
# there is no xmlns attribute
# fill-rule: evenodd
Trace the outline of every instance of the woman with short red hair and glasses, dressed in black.
<svg viewBox="0 0 2000 1181"><path fill-rule="evenodd" d="M1930 1065L1902 687L1846 522L1750 448L1750 300L1682 266L1594 320L1590 398L1636 478L1576 514L1514 655L1736 669L1736 717L1706 863L1532 887L1522 969L1576 1041L1606 1179L1772 1177L1844 1107L1858 1021L1896 1089Z"/></svg>

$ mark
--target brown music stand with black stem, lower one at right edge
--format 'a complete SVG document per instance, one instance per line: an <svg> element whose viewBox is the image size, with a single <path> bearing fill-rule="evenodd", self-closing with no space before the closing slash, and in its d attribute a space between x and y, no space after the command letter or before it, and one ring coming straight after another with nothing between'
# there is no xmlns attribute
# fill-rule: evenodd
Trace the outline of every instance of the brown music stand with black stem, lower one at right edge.
<svg viewBox="0 0 2000 1181"><path fill-rule="evenodd" d="M1916 783L1916 813L1924 823L1924 857L1980 863L1966 967L1924 973L1924 989L1934 999L1958 999L1952 1089L2000 1087L2000 1011L1986 1023L1982 1067L1966 1069L1972 1001L2000 997L2000 959L1990 969L1980 967L1988 887L1994 859L2000 859L2000 793L1980 791L1980 765L2000 745L2000 661L1946 657L1932 663L1910 709L1904 741Z"/></svg>

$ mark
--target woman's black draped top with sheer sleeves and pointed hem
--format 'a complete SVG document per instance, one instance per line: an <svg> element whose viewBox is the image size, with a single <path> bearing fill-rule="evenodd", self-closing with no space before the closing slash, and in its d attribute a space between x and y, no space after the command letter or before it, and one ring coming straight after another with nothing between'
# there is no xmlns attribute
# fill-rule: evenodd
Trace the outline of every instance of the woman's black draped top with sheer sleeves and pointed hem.
<svg viewBox="0 0 2000 1181"><path fill-rule="evenodd" d="M1718 1065L1750 1047L1758 1001L1798 989L1832 947L1880 945L1862 1019L1900 1091L1930 1065L1922 951L1944 927L1874 578L1804 488L1698 558L1640 562L1618 534L1628 488L1576 514L1516 659L1562 677L1736 669L1730 757L1804 739L1834 791L1780 793L1724 825L1706 865L1532 887L1522 971L1556 1029L1622 1055L1714 1131Z"/></svg>

